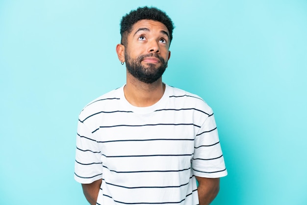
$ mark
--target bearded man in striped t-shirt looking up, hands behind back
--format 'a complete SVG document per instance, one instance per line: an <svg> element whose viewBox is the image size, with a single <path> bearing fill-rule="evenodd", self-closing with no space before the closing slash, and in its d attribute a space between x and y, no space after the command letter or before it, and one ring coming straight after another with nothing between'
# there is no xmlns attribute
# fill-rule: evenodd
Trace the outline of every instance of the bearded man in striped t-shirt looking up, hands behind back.
<svg viewBox="0 0 307 205"><path fill-rule="evenodd" d="M154 7L122 18L127 82L79 115L75 179L91 205L207 205L227 175L211 108L162 82L173 29Z"/></svg>

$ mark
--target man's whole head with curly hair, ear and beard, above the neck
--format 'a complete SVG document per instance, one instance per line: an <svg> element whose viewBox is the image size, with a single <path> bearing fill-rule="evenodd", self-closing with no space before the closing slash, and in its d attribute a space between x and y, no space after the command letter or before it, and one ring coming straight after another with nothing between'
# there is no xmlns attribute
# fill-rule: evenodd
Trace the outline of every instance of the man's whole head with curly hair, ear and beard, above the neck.
<svg viewBox="0 0 307 205"><path fill-rule="evenodd" d="M123 17L122 40L116 51L119 60L126 62L128 79L161 82L171 56L169 46L173 29L172 20L153 7L138 8Z"/></svg>

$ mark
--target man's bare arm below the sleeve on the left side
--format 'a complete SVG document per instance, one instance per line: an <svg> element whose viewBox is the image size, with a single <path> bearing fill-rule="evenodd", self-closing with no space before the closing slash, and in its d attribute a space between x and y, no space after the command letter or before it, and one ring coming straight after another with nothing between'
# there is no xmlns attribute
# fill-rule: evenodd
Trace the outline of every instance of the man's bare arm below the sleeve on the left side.
<svg viewBox="0 0 307 205"><path fill-rule="evenodd" d="M89 184L82 183L83 194L91 205L96 205L101 183L102 179L98 179Z"/></svg>

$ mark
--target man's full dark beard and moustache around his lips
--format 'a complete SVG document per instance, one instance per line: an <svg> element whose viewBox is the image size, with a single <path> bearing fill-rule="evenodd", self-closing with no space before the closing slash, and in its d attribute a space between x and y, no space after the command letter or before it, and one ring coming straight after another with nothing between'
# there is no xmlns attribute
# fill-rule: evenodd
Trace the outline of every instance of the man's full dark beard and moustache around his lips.
<svg viewBox="0 0 307 205"><path fill-rule="evenodd" d="M148 63L146 66L142 65L141 62L144 58L155 57L158 58L161 62L161 66L155 68L155 64ZM128 53L125 51L125 62L128 72L138 80L151 84L158 80L164 73L167 62L155 53L149 53L145 55L140 55L137 58L130 58Z"/></svg>

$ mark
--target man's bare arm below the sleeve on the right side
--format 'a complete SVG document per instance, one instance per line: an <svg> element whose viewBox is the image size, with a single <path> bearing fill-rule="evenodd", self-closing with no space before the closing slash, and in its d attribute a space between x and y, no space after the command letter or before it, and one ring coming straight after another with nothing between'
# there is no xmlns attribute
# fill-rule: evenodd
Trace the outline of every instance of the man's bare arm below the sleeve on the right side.
<svg viewBox="0 0 307 205"><path fill-rule="evenodd" d="M199 186L197 188L200 205L209 205L220 190L220 178L196 177Z"/></svg>

